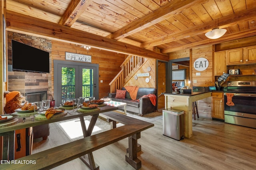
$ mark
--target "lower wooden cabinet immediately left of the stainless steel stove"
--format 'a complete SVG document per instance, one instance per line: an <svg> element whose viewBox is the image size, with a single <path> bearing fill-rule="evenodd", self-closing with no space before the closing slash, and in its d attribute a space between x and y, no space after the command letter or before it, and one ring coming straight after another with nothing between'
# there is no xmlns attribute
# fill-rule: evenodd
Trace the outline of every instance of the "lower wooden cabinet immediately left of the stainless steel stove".
<svg viewBox="0 0 256 170"><path fill-rule="evenodd" d="M223 92L212 92L212 118L224 120Z"/></svg>

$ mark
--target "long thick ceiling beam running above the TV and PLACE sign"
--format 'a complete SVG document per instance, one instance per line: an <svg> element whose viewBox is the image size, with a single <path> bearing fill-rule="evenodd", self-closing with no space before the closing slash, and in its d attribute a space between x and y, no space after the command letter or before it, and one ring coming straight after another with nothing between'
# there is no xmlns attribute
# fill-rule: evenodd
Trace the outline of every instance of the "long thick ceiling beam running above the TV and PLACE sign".
<svg viewBox="0 0 256 170"><path fill-rule="evenodd" d="M134 45L109 39L92 33L87 33L58 23L52 23L38 18L22 15L10 10L6 10L6 25L8 31L16 31L26 33L28 35L36 35L74 43L78 45L90 45L97 49L112 51L127 55L136 55L146 58L168 61L168 55L156 53L147 49L143 49Z"/></svg>

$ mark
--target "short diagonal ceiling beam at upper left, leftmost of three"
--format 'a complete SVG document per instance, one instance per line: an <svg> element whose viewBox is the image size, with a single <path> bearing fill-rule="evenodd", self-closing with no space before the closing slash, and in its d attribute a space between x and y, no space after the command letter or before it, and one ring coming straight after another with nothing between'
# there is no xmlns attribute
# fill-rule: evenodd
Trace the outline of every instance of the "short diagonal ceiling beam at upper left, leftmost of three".
<svg viewBox="0 0 256 170"><path fill-rule="evenodd" d="M60 19L59 24L71 27L91 3L92 0L72 0Z"/></svg>

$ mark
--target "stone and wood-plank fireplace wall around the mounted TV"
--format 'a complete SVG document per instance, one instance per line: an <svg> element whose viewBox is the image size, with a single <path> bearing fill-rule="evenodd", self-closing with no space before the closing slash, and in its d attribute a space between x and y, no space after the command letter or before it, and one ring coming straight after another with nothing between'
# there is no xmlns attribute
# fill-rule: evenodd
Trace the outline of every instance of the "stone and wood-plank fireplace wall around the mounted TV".
<svg viewBox="0 0 256 170"><path fill-rule="evenodd" d="M50 70L51 70L51 51L52 42L50 39L45 39L42 37L36 37L32 35L26 35L22 33L16 33L12 31L7 31L8 35L8 64L12 65L12 39L15 41L30 45L32 47L42 49L50 53ZM29 61L32 62L32 61ZM38 59L35 56L35 61L38 63ZM12 71L8 70L8 90L9 91L19 91L23 96L38 96L40 94L40 100L38 97L34 96L32 100L41 101L43 99L50 99L49 94L52 91L51 80L52 76L49 73L36 73L36 72L22 72L22 71ZM46 92L46 96L45 95ZM30 101L29 101L30 102Z"/></svg>

